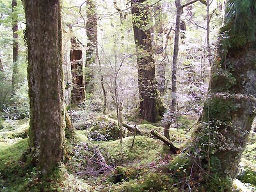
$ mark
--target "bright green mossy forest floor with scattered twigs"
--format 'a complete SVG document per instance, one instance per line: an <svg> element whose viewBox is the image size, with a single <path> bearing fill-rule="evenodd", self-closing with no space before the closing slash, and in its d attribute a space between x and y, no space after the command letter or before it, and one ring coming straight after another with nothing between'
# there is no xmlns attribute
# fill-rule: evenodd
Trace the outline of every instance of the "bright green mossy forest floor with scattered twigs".
<svg viewBox="0 0 256 192"><path fill-rule="evenodd" d="M161 124L141 122L138 127L144 135L134 138L127 132L120 143L111 115L73 111L72 116L74 138L66 140L65 159L47 179L38 178L36 168L27 163L29 120L1 120L0 191L189 191L188 186L180 185L188 179L182 174L189 170L149 134L152 129L162 133ZM170 137L175 146L182 148L194 121L183 117L179 122L181 128L171 129ZM252 132L234 191L256 191L255 159L256 135Z"/></svg>

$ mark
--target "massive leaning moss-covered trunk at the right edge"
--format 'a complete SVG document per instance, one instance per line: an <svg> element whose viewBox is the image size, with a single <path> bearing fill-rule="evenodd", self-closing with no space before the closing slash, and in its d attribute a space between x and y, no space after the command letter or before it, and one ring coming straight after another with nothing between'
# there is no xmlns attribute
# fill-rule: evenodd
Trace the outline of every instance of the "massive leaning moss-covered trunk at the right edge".
<svg viewBox="0 0 256 192"><path fill-rule="evenodd" d="M233 2L228 2L218 55L212 65L209 99L205 102L201 123L189 148L193 156L190 174L195 179L207 180L211 189L219 187L216 191L221 186L228 189L227 178L236 177L255 117L255 28L250 34L251 24L246 26L243 20L246 14L250 19L256 19L255 6L238 12L232 9L240 9L237 4L241 2ZM237 28L241 24L236 19L240 16L245 25L241 30ZM209 191L213 191L211 189Z"/></svg>

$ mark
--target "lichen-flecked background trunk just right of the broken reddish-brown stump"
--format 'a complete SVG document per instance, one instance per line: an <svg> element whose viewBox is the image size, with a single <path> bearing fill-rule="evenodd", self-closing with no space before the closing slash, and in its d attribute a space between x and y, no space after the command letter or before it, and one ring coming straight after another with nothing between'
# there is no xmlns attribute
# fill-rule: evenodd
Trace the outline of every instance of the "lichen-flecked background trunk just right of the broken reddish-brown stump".
<svg viewBox="0 0 256 192"><path fill-rule="evenodd" d="M95 6L95 0L87 1L86 17L86 35L88 38L88 43L86 50L86 75L84 76L84 86L86 92L92 93L92 65L95 65L95 60L97 58L97 8Z"/></svg>

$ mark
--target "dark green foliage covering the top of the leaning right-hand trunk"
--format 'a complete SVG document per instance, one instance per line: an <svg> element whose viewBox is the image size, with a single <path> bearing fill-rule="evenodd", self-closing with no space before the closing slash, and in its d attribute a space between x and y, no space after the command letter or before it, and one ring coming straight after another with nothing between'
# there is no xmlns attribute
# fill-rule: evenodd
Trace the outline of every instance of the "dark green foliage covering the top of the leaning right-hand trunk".
<svg viewBox="0 0 256 192"><path fill-rule="evenodd" d="M254 0L227 2L225 26L221 29L221 46L224 51L239 50L255 41L256 4Z"/></svg>

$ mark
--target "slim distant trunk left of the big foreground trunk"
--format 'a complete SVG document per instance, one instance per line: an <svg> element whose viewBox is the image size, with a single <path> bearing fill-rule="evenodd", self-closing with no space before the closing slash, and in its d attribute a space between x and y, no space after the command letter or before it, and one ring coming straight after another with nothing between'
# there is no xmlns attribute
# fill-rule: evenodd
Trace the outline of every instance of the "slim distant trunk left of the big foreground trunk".
<svg viewBox="0 0 256 192"><path fill-rule="evenodd" d="M18 42L18 15L17 15L17 0L12 0L12 33L13 33L13 70L12 70L12 90L19 83L18 59L19 59L19 42Z"/></svg>

